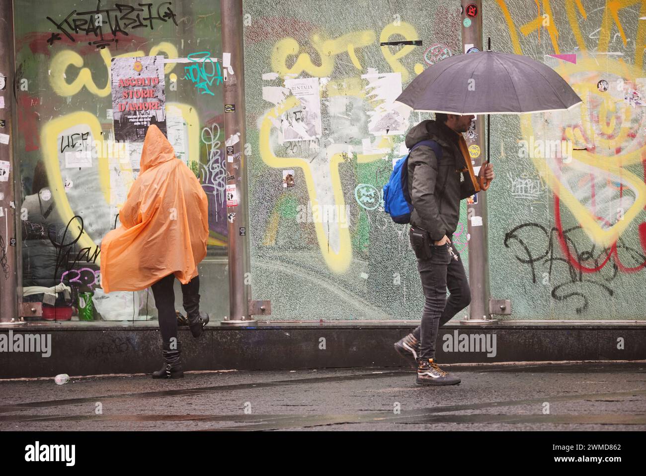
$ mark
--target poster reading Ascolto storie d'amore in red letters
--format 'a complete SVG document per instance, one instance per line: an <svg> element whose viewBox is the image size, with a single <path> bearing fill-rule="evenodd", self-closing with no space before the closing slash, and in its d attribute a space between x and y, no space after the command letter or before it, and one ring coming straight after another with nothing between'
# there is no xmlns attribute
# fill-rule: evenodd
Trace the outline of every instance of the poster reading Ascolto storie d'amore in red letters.
<svg viewBox="0 0 646 476"><path fill-rule="evenodd" d="M166 135L163 56L112 58L114 139L143 142L149 125Z"/></svg>

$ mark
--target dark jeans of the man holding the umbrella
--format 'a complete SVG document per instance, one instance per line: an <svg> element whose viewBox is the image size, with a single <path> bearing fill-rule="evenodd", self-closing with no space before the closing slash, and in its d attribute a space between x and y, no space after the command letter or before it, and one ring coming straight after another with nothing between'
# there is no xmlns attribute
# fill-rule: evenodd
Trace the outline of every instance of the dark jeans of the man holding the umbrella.
<svg viewBox="0 0 646 476"><path fill-rule="evenodd" d="M464 273L462 258L451 244L431 246L430 259L417 259L417 270L424 288L424 311L422 325L413 330L413 336L421 340L420 356L425 359L435 358L435 341L439 327L451 320L471 302L471 290ZM448 252L449 246L457 261ZM446 288L451 293L446 299Z"/></svg>

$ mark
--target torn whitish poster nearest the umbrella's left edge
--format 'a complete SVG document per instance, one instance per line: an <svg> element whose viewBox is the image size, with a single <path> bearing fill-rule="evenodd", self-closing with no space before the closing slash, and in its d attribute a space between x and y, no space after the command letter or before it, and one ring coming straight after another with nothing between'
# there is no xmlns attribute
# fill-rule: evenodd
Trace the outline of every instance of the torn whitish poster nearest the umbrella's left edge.
<svg viewBox="0 0 646 476"><path fill-rule="evenodd" d="M410 107L395 103L402 92L402 75L399 72L362 74L368 80L364 88L373 111L368 111L368 131L375 136L405 134L408 131Z"/></svg>

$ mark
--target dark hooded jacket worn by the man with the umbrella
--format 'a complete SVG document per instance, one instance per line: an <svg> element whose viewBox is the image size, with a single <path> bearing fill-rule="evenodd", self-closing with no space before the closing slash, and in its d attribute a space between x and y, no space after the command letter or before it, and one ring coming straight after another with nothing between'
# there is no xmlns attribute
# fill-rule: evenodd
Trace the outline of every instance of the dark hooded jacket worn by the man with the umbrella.
<svg viewBox="0 0 646 476"><path fill-rule="evenodd" d="M413 202L410 224L430 233L433 241L451 237L460 217L460 200L475 193L459 148L458 133L444 123L422 121L406 135L406 147L432 139L442 147L437 160L433 149L420 146L408 157L408 193Z"/></svg>

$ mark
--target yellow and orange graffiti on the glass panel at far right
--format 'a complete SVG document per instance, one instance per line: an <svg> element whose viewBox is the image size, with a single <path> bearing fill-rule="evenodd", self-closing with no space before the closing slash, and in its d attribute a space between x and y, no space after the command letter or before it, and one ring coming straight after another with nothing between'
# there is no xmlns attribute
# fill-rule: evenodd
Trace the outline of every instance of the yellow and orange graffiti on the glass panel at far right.
<svg viewBox="0 0 646 476"><path fill-rule="evenodd" d="M603 13L603 19L601 21L601 28L599 29L599 44L598 52L607 52L610 36L612 33L613 25L617 27L618 33L623 40L623 44L627 45L627 37L625 35L625 30L621 25L620 18L618 16L619 10L621 8L626 8L638 3L638 0L627 0L627 1L612 1L607 0L605 5L605 10ZM497 4L503 12L503 17L507 22L512 46L516 54L523 54L521 49L520 41L512 17L509 15L508 9L505 5L505 0L497 0ZM549 3L546 0L543 5L547 9L549 8ZM646 38L646 30L643 26L643 22L638 22L638 28L636 32L636 52L635 52L635 65L627 65L625 61L619 60L609 60L606 59L605 67L601 67L598 63L598 60L589 58L587 52L587 47L585 46L585 41L581 35L581 30L578 25L578 18L576 16L576 10L574 6L579 10L579 14L584 19L587 19L587 14L581 5L579 0L565 0L565 10L567 14L567 19L570 24L572 32L574 32L574 37L579 45L581 50L583 60L577 61L576 65L568 63L567 61L559 61L559 67L556 71L568 80L568 78L574 77L575 74L588 73L588 77L585 81L580 80L580 76L577 81L570 81L575 91L579 94L583 100L581 105L581 122L585 134L587 135L587 140L595 145L596 148L601 150L610 150L614 151L618 147L623 146L625 142L629 141L630 138L630 124L633 117L634 111L632 107L627 103L623 102L623 97L614 100L609 95L602 96L603 100L599 99L599 108L596 112L598 127L600 133L595 133L594 124L592 124L590 118L593 114L589 110L589 105L592 103L590 99L593 96L599 98L599 91L597 88L597 81L602 78L600 74L596 72L608 74L609 71L612 71L612 74L618 76L619 78L627 80L635 80L636 78L643 76L641 72L641 65L643 61L643 43ZM642 15L646 14L646 2L641 1L641 12ZM550 15L550 19L552 19ZM551 25L556 28L556 22L551 21ZM530 21L529 23L521 26L520 31L526 36L530 32L536 30L537 23L536 19ZM549 28L548 28L549 31ZM558 45L556 43L558 37L558 32L555 29L554 33L550 32L550 38L552 38L552 44L554 45L555 53L558 53ZM610 87L614 87L611 85ZM623 96L623 91L621 93ZM621 124L618 124L616 121L616 114L620 113ZM534 127L532 126L531 117L528 114L520 116L521 120L521 133L523 138L529 138L534 135ZM581 131L578 129L573 129L572 127L565 127L563 133L574 143L585 143L585 139L581 134ZM613 135L614 134L614 135ZM560 173L557 175L541 158L532 158L534 166L537 171L545 178L548 186L555 195L559 197L561 202L567 206L571 211L572 215L578 219L581 227L585 232L588 233L590 238L601 246L610 246L615 243L618 237L625 231L630 222L632 222L646 206L646 184L644 183L643 177L638 177L633 173L630 173L629 170L625 168L630 164L636 164L641 162L642 157L646 155L646 146L641 146L639 148L625 148L624 151L616 155L598 155L596 153L589 152L587 150L575 150L572 153L572 163L564 164L561 170L567 171L578 170L588 173L589 171L598 171L606 173L609 177L614 176L614 180L620 180L623 184L628 184L630 189L634 191L635 201L630 206L630 208L623 213L623 219L616 221L610 228L604 229L599 225L598 217L595 217L594 214L584 206L581 201L568 189L567 186L561 181Z"/></svg>

